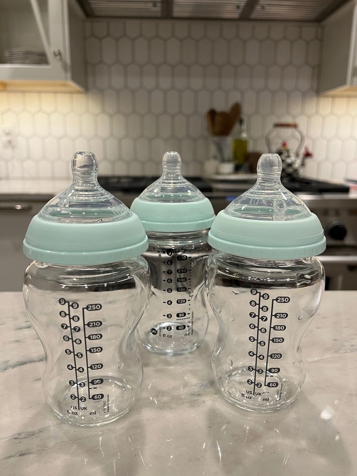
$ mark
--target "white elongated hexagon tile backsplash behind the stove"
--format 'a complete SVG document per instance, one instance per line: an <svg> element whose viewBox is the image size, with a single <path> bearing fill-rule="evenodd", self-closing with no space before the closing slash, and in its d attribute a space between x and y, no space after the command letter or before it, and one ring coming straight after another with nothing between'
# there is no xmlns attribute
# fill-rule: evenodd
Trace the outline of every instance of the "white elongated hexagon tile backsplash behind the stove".
<svg viewBox="0 0 357 476"><path fill-rule="evenodd" d="M276 121L293 121L313 158L305 173L357 178L357 98L317 98L314 25L169 20L86 23L86 94L0 93L0 177L69 177L93 150L101 174L159 174L178 150L187 175L209 155L204 115L240 101L249 146L266 151ZM279 145L280 139L276 142Z"/></svg>

